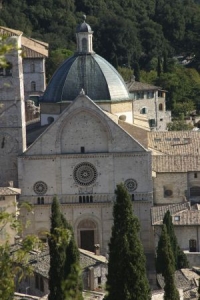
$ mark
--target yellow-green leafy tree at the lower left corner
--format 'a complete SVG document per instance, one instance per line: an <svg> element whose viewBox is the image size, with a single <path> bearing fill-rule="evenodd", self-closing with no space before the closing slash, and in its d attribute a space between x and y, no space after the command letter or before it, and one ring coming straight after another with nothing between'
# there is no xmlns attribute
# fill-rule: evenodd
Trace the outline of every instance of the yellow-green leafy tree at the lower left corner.
<svg viewBox="0 0 200 300"><path fill-rule="evenodd" d="M31 210L28 204L21 207ZM17 214L20 213L18 209ZM0 211L0 232L8 226L21 235L23 224L16 218L16 213L8 213ZM32 269L28 262L29 252L35 247L38 249L41 243L38 237L28 235L21 239L16 247L9 244L9 236L4 243L0 245L0 299L11 300L15 292L15 287L18 283L32 273Z"/></svg>

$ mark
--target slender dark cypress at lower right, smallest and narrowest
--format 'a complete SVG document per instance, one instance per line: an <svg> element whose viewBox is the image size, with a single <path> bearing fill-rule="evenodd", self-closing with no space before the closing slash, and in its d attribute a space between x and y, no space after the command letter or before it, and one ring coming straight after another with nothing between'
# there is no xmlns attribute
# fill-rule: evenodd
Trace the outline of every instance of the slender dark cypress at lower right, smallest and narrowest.
<svg viewBox="0 0 200 300"><path fill-rule="evenodd" d="M162 227L162 233L159 240L159 248L162 256L162 275L165 280L164 300L179 300L179 292L174 283L175 262L171 248L169 235L166 225Z"/></svg>

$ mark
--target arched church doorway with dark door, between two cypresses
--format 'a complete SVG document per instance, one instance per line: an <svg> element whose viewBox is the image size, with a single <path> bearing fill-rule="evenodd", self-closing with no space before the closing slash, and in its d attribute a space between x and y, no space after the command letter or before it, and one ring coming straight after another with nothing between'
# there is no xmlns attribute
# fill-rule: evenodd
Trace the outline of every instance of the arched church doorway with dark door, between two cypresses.
<svg viewBox="0 0 200 300"><path fill-rule="evenodd" d="M94 252L94 245L98 243L97 224L91 219L86 219L79 223L77 229L79 247Z"/></svg>

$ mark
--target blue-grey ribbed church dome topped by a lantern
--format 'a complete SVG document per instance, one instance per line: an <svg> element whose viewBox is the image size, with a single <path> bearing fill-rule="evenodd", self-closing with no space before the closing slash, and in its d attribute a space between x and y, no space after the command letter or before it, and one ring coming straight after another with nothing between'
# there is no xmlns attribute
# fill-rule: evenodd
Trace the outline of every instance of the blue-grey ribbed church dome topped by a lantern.
<svg viewBox="0 0 200 300"><path fill-rule="evenodd" d="M77 27L77 52L54 73L41 102L73 101L83 89L93 101L129 100L117 70L92 48L93 32L84 21Z"/></svg>

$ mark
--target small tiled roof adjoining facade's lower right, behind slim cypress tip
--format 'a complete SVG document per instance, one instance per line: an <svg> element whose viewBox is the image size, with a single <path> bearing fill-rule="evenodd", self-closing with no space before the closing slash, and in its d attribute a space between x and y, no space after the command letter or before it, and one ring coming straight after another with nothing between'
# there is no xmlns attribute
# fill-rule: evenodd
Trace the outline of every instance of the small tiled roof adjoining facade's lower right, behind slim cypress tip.
<svg viewBox="0 0 200 300"><path fill-rule="evenodd" d="M176 215L177 213L188 211L190 209L190 203L178 203L178 204L171 204L171 205L162 205L162 206L154 206L151 208L151 221L152 225L160 225L162 224L163 217L165 213L169 210L170 214ZM189 210L191 211L191 210ZM200 213L200 211L199 211ZM177 221L176 223L177 224Z"/></svg>

